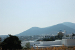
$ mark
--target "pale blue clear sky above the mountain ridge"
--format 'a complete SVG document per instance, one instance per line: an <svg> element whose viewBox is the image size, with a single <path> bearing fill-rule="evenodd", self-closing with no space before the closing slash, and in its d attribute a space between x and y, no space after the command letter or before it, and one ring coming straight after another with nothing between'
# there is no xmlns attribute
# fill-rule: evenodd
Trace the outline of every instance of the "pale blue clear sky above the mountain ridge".
<svg viewBox="0 0 75 50"><path fill-rule="evenodd" d="M75 0L0 0L0 35L63 22L75 23Z"/></svg>

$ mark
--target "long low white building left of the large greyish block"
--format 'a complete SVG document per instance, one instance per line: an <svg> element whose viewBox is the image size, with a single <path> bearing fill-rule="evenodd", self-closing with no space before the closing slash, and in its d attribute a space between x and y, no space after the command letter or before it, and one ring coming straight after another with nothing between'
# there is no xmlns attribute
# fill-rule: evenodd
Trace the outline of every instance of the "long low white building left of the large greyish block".
<svg viewBox="0 0 75 50"><path fill-rule="evenodd" d="M39 44L33 45L33 47L50 47L52 45L62 45L61 40L55 40L55 41L40 41Z"/></svg>

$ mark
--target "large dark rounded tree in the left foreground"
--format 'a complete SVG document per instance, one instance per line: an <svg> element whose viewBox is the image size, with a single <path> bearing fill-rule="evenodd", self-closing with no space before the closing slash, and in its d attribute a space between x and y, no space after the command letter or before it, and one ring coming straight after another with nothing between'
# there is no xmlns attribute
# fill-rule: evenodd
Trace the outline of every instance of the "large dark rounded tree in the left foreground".
<svg viewBox="0 0 75 50"><path fill-rule="evenodd" d="M21 41L17 36L9 35L2 43L2 50L12 50L12 49L22 49L21 47Z"/></svg>

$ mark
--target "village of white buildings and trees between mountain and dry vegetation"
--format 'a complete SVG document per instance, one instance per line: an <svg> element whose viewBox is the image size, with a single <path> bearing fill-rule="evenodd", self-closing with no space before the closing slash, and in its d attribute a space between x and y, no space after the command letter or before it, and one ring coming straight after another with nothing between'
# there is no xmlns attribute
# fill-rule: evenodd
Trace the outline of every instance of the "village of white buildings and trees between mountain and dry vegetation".
<svg viewBox="0 0 75 50"><path fill-rule="evenodd" d="M67 34L67 31L60 30L57 32L57 35L35 35L35 36L18 36L21 39L21 46L29 48L47 48L47 47L74 47L75 46L75 34ZM12 35L9 35L12 36ZM27 39L28 37L28 39ZM27 39L27 40L26 40ZM0 38L0 43L2 42L2 38Z"/></svg>

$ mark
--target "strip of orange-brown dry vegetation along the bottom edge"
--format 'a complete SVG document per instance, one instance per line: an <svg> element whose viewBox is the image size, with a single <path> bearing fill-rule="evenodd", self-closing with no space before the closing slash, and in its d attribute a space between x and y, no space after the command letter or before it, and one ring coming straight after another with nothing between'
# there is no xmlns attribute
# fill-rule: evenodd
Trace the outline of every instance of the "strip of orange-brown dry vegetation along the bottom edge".
<svg viewBox="0 0 75 50"><path fill-rule="evenodd" d="M18 50L75 50L75 47L66 47L66 46L61 46L61 47L46 47L46 48L31 48L31 49L18 49Z"/></svg>

